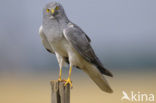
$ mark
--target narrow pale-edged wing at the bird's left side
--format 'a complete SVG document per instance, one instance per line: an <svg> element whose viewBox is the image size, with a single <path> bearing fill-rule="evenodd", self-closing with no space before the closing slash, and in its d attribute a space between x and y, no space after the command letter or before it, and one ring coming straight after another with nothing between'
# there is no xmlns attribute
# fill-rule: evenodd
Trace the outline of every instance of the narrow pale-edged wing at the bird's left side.
<svg viewBox="0 0 156 103"><path fill-rule="evenodd" d="M47 40L47 37L45 36L45 34L44 34L44 32L43 32L42 26L40 26L39 34L40 34L40 36L41 36L41 38L42 38L42 43L43 43L43 45L44 45L44 48L45 48L48 52L54 54L54 51L53 51L53 49L51 48L51 46L50 46L50 44L49 44L49 42L48 42L48 40Z"/></svg>

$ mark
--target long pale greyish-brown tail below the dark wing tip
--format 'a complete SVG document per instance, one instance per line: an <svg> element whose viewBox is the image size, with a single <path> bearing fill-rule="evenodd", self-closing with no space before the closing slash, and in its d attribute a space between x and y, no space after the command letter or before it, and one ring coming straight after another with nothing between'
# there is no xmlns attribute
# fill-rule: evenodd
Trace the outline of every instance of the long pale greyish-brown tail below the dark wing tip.
<svg viewBox="0 0 156 103"><path fill-rule="evenodd" d="M103 91L112 93L113 90L110 88L107 80L104 78L98 68L92 64L89 64L83 69L89 77L96 83L96 85Z"/></svg>

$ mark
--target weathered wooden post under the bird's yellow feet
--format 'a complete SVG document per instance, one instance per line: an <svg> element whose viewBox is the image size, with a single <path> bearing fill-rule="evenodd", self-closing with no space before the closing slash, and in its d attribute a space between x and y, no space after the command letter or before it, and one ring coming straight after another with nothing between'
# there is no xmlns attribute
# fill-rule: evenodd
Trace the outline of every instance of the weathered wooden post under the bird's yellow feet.
<svg viewBox="0 0 156 103"><path fill-rule="evenodd" d="M51 103L70 103L70 85L53 80L51 84Z"/></svg>

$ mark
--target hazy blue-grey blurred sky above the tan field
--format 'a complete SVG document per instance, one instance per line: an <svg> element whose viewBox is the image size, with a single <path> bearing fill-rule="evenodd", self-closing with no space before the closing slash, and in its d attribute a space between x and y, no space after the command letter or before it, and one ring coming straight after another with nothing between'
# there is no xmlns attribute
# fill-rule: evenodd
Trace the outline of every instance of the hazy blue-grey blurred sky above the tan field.
<svg viewBox="0 0 156 103"><path fill-rule="evenodd" d="M0 0L0 71L58 68L38 29L52 0ZM155 0L57 0L106 68L156 68Z"/></svg>

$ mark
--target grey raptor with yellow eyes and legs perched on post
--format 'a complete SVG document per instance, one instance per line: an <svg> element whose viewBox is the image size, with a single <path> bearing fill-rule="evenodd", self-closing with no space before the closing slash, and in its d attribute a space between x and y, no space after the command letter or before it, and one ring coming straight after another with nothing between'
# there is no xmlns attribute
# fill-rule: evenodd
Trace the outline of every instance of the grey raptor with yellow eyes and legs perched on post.
<svg viewBox="0 0 156 103"><path fill-rule="evenodd" d="M96 56L87 34L68 19L62 4L46 4L42 15L39 34L44 48L56 55L59 64L58 81L62 81L62 68L69 64L69 75L64 86L69 84L72 87L71 72L76 67L88 74L102 91L112 93L113 90L104 77L113 77L112 73L104 68Z"/></svg>

